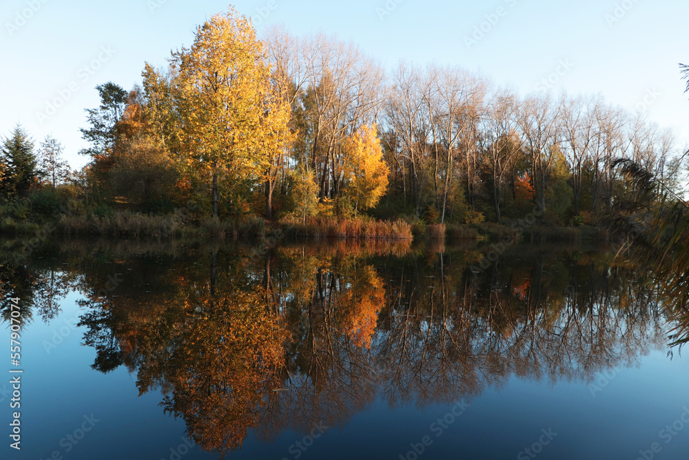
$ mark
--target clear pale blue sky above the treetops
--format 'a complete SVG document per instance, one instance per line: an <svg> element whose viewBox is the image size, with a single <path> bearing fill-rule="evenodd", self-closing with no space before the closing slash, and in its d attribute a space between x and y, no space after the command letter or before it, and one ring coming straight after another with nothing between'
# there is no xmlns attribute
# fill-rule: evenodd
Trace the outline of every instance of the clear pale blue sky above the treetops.
<svg viewBox="0 0 689 460"><path fill-rule="evenodd" d="M520 94L564 88L643 109L689 142L686 0L236 0L260 32L283 23L351 39L386 68L400 59L457 64ZM164 66L196 24L227 9L219 0L2 0L0 134L21 123L52 133L72 166L85 163L79 128L98 105L94 87L131 89L144 62ZM262 17L261 13L263 12ZM267 14L266 14L267 13ZM471 41L473 40L473 41ZM546 80L547 81L547 80ZM53 104L56 107L51 107ZM59 106L59 107L58 107Z"/></svg>

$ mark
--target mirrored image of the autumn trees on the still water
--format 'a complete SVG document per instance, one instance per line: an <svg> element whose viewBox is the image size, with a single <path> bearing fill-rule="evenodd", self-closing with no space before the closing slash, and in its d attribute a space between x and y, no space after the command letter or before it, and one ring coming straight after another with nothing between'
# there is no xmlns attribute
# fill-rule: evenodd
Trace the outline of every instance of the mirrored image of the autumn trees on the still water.
<svg viewBox="0 0 689 460"><path fill-rule="evenodd" d="M470 400L515 375L589 382L668 342L659 288L606 248L520 246L478 270L480 248L435 250L65 241L8 252L2 312L19 296L26 321L50 321L79 290L92 367L127 366L220 456L249 430L342 426L377 398Z"/></svg>

